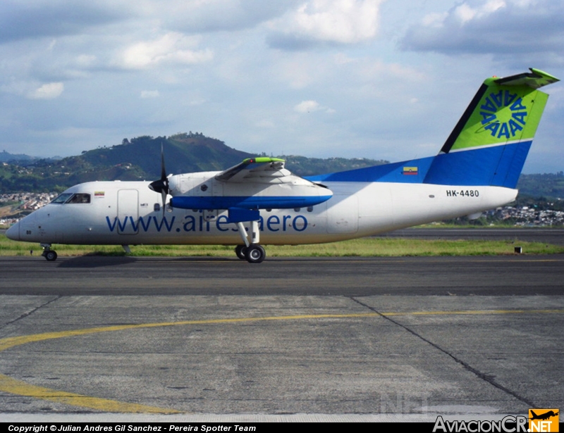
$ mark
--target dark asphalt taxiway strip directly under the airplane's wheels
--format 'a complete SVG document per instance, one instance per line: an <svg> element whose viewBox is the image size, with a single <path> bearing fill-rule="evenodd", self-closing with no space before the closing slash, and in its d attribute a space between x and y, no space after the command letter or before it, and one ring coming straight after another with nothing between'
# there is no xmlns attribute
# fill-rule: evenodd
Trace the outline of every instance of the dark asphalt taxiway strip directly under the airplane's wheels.
<svg viewBox="0 0 564 433"><path fill-rule="evenodd" d="M0 293L31 296L558 295L563 281L563 256L0 258Z"/></svg>

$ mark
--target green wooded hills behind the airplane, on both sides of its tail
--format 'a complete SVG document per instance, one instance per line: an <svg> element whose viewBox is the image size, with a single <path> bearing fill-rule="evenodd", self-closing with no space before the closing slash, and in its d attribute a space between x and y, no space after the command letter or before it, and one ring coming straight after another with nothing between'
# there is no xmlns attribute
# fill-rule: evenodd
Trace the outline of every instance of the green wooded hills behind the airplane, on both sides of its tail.
<svg viewBox="0 0 564 433"><path fill-rule="evenodd" d="M219 139L206 137L200 132L182 132L170 137L142 136L123 139L121 144L100 146L83 151L78 156L62 159L38 160L26 155L4 152L0 153L4 158L0 160L0 195L9 199L11 193L62 192L74 184L93 180L156 180L161 171L161 146L164 149L166 171L176 174L225 170L245 158L266 156L265 153L255 155L233 149ZM367 158L306 158L295 155L277 157L285 159L288 170L300 176L352 170L388 162ZM502 210L500 215L492 211L486 217L471 222L468 222L467 218L449 222L489 225L494 220L512 222L525 218L519 209L529 209L537 213L564 211L564 172L521 175L517 188L520 194L513 207L510 207L516 216L512 214L513 216L508 218L508 215L505 215L508 211ZM47 198L47 201L49 200ZM5 199L0 200L0 211L4 209L8 213L13 212L13 208L20 204L19 201L1 201ZM4 208L2 205L5 205ZM18 208L18 215L28 211Z"/></svg>

